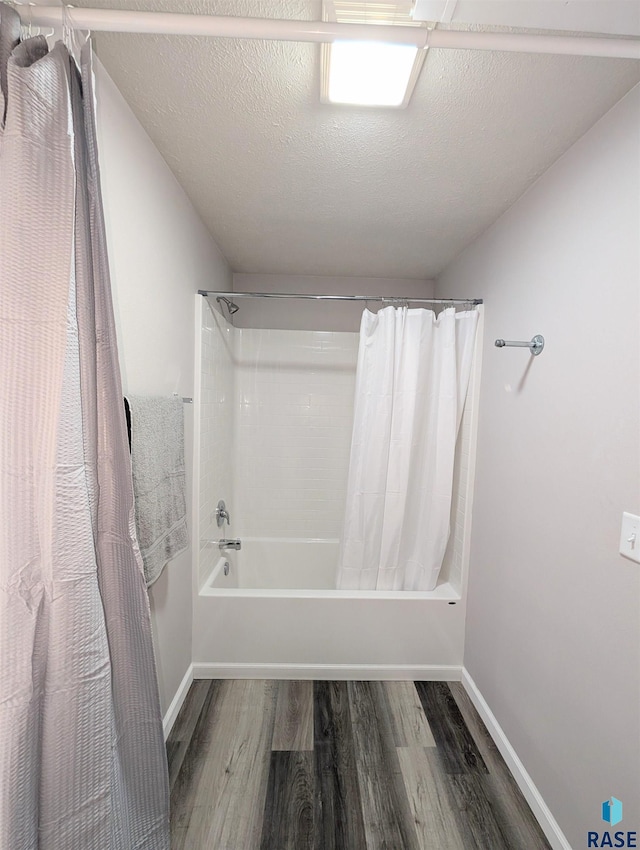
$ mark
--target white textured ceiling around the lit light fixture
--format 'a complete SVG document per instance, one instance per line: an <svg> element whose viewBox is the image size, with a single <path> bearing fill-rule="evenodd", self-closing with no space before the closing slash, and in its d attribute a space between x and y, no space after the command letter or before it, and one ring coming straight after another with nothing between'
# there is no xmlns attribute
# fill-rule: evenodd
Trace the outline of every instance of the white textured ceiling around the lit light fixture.
<svg viewBox="0 0 640 850"><path fill-rule="evenodd" d="M119 5L320 18L304 0ZM434 277L640 79L631 60L430 50L406 110L356 109L320 104L319 45L96 42L239 272Z"/></svg>

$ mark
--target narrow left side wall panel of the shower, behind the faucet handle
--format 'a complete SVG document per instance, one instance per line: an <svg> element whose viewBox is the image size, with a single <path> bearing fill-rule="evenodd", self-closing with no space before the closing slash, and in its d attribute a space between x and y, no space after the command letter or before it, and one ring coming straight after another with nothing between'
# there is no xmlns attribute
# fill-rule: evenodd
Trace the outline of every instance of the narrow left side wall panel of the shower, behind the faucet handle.
<svg viewBox="0 0 640 850"><path fill-rule="evenodd" d="M227 320L203 301L200 377L200 553L199 584L211 573L218 557L211 541L223 536L215 521L224 499L232 521L237 510L233 444L235 420L234 335ZM226 528L226 527L225 527ZM225 531L224 534L227 532Z"/></svg>

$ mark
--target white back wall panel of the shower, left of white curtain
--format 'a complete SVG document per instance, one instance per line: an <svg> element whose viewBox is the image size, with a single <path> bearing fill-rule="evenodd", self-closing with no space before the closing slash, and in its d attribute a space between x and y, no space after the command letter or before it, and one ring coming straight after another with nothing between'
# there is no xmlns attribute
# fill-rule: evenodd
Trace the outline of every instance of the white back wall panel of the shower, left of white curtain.
<svg viewBox="0 0 640 850"><path fill-rule="evenodd" d="M249 537L342 532L358 334L236 330L236 502Z"/></svg>

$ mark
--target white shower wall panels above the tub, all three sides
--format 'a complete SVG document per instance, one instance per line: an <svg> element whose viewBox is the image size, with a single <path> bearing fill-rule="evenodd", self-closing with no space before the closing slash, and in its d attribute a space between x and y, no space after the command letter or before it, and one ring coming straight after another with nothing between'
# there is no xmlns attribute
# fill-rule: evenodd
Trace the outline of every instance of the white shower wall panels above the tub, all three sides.
<svg viewBox="0 0 640 850"><path fill-rule="evenodd" d="M236 328L206 302L202 316L199 587L215 568L222 536L341 537L358 354L355 333ZM456 449L441 572L458 592L466 583L477 369ZM230 528L216 525L219 499Z"/></svg>

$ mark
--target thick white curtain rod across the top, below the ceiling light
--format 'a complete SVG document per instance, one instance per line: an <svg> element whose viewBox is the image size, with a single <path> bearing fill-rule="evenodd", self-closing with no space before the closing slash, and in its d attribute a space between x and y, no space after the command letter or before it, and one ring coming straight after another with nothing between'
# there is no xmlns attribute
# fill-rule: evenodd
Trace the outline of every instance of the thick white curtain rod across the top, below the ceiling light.
<svg viewBox="0 0 640 850"><path fill-rule="evenodd" d="M267 18L139 12L124 9L80 9L73 6L28 6L17 3L25 26L71 27L104 32L202 35L274 41L384 41L426 49L498 50L640 59L640 39L607 36L529 35L527 33L461 32L427 27L349 24Z"/></svg>

